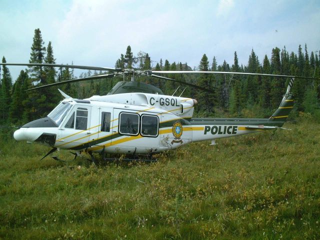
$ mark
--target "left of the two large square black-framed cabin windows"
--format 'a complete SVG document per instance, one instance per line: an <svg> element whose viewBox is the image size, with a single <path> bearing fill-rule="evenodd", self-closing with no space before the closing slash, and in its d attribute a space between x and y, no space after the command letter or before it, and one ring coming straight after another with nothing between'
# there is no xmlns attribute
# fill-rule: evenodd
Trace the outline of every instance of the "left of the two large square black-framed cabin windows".
<svg viewBox="0 0 320 240"><path fill-rule="evenodd" d="M119 132L121 134L139 134L139 114L121 112L119 115L119 122Z"/></svg>

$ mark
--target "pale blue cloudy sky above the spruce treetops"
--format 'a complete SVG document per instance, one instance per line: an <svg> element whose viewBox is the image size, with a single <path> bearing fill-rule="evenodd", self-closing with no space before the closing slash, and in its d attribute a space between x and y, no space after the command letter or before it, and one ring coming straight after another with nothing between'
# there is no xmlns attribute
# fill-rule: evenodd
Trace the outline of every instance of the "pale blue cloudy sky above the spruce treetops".
<svg viewBox="0 0 320 240"><path fill-rule="evenodd" d="M274 47L320 50L319 0L0 0L0 56L26 63L34 29L56 63L114 67L127 45L151 60L197 67L205 53L246 65ZM153 62L155 66L156 62ZM13 80L23 67L10 66ZM79 74L79 72L76 72Z"/></svg>

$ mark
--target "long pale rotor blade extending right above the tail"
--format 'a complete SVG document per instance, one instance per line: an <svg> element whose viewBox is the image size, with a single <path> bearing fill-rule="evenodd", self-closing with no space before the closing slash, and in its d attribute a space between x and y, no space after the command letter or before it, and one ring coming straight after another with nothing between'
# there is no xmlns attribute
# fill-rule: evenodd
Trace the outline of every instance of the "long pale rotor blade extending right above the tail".
<svg viewBox="0 0 320 240"><path fill-rule="evenodd" d="M304 79L320 79L307 76L290 76L279 74L251 73L251 72L232 72L232 71L152 71L152 73L208 73L208 74L238 74L238 75L258 75L258 76L275 76L275 77L295 77Z"/></svg>

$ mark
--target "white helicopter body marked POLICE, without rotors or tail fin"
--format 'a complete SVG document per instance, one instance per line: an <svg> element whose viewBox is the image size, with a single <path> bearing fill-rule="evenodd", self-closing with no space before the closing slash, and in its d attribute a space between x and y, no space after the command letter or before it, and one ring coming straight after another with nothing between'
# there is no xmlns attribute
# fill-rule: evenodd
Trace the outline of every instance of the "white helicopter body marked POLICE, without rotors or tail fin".
<svg viewBox="0 0 320 240"><path fill-rule="evenodd" d="M16 130L14 138L74 151L148 154L283 124L270 118L192 118L196 103L150 93L66 98L47 117Z"/></svg>

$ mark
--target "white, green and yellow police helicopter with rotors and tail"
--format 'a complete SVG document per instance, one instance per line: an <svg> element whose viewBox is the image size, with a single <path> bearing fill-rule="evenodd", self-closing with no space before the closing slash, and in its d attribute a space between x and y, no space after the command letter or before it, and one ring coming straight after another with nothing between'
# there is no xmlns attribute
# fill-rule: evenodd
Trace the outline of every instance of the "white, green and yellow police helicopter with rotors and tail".
<svg viewBox="0 0 320 240"><path fill-rule="evenodd" d="M293 108L290 88L294 78L312 78L262 73L156 71L65 64L0 64L107 71L107 74L55 82L28 90L39 90L68 82L115 76L124 78L131 75L131 81L119 81L109 93L102 96L76 99L59 89L64 99L46 117L24 124L13 134L17 141L26 140L52 147L41 159L56 150L68 149L73 151L75 157L81 151L89 153L93 162L93 152L101 153L104 159L115 159L115 155L124 154L123 159L126 160L154 160L150 158L153 153L175 149L190 142L211 140L211 144L215 144L215 139L218 138L282 128ZM152 76L211 91L202 86L162 76L163 73L264 75L289 77L290 81L279 107L269 118L195 118L192 115L197 104L196 99L164 95L153 85L134 81L134 76ZM105 157L106 153L113 157ZM59 160L57 156L53 158Z"/></svg>

